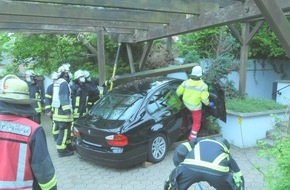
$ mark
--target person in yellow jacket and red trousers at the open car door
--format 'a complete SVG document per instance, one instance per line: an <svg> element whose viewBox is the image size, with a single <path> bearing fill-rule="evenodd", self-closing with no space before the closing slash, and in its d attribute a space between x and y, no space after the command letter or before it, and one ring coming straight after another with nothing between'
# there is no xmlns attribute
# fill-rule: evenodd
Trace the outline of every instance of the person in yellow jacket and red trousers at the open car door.
<svg viewBox="0 0 290 190"><path fill-rule="evenodd" d="M176 89L177 96L182 96L182 101L192 115L192 128L188 140L197 137L202 118L202 103L214 107L214 103L209 101L208 86L201 79L202 67L194 66L190 78L185 80Z"/></svg>

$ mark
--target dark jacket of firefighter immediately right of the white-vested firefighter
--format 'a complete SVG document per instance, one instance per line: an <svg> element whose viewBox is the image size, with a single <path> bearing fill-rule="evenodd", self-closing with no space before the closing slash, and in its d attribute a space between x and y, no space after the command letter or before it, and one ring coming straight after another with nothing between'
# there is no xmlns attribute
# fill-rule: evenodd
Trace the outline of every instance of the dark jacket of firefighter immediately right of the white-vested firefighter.
<svg viewBox="0 0 290 190"><path fill-rule="evenodd" d="M89 93L86 86L79 83L74 83L71 86L72 91L72 107L74 118L79 118L88 112Z"/></svg>

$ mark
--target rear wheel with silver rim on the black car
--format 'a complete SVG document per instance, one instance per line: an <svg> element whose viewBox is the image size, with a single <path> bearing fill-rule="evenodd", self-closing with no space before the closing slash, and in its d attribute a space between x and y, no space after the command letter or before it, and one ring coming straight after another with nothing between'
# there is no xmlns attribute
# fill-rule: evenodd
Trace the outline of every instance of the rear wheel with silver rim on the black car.
<svg viewBox="0 0 290 190"><path fill-rule="evenodd" d="M152 163L160 162L164 159L168 149L168 142L165 135L159 133L155 135L148 147L148 161Z"/></svg>

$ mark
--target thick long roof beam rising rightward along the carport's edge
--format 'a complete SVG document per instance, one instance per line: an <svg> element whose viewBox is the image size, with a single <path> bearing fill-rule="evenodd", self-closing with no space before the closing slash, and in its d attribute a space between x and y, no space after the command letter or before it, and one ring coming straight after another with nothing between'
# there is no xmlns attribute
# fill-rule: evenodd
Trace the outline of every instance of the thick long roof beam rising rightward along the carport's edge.
<svg viewBox="0 0 290 190"><path fill-rule="evenodd" d="M289 0L277 0L277 3L283 11L290 10ZM245 3L238 2L218 11L206 12L199 17L189 18L184 21L172 21L168 25L151 28L146 35L136 35L138 38L124 39L124 42L143 42L257 18L262 19L264 17L255 2L248 0Z"/></svg>

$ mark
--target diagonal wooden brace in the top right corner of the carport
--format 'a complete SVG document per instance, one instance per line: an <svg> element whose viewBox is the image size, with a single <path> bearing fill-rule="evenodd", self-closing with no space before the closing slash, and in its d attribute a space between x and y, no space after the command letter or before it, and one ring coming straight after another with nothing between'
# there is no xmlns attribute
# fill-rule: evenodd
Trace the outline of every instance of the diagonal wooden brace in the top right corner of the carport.
<svg viewBox="0 0 290 190"><path fill-rule="evenodd" d="M290 58L290 23L276 0L254 0ZM289 0L288 0L289 1Z"/></svg>

